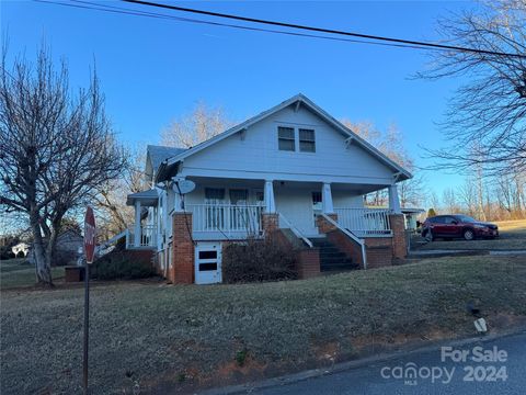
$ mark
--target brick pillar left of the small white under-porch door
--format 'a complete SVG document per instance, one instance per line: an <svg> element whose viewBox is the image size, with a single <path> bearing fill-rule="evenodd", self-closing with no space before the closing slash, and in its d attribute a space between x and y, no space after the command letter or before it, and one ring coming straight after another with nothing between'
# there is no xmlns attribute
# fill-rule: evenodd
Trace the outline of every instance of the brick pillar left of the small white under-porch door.
<svg viewBox="0 0 526 395"><path fill-rule="evenodd" d="M194 283L194 252L192 242L192 213L174 213L172 216L172 267L168 280L174 284Z"/></svg>

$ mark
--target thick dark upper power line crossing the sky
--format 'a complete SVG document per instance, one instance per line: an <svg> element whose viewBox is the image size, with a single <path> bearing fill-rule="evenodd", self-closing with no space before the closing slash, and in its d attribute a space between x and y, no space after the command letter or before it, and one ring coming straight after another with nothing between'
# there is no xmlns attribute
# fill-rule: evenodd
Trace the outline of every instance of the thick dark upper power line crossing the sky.
<svg viewBox="0 0 526 395"><path fill-rule="evenodd" d="M353 36L353 37L359 37L359 38L384 41L384 42L389 42L389 43L410 44L410 45L432 47L432 48L441 48L441 49L453 49L453 50L458 50L458 52L471 52L471 53L485 54L485 55L498 55L498 56L508 56L508 57L511 56L511 57L521 57L521 58L524 57L524 58L526 58L526 55L522 55L522 54L508 54L508 53L500 53L500 52L485 50L485 49L460 47L460 46L455 46L455 45L445 45L445 44L419 42L419 41L412 41L412 40L385 37L385 36L377 36L377 35L355 33L355 32L345 32L345 31L333 30L333 29L315 27L315 26L300 25L300 24L295 24L295 23L270 21L270 20L262 20L262 19L249 18L249 16L240 16L240 15L226 14L226 13L219 13L219 12L213 12L213 11L196 10L196 9L190 9L190 8L178 7L178 5L156 3L156 2L151 2L151 1L142 1L142 0L122 0L122 1L128 2L128 3L148 5L148 7L162 8L162 9L168 9L168 10L181 11L181 12L190 12L190 13L196 13L196 14L202 14L202 15L231 19L231 20L236 20L236 21L252 22L252 23L266 24L266 25L281 26L281 27L298 29L298 30L305 30L305 31L311 31L311 32L318 32L318 33L339 34L339 35Z"/></svg>

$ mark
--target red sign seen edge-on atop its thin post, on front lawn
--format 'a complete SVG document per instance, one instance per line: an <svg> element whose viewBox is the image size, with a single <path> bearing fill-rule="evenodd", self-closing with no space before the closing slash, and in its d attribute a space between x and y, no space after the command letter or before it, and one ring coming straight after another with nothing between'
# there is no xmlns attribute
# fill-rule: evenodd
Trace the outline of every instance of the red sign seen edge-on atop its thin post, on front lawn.
<svg viewBox="0 0 526 395"><path fill-rule="evenodd" d="M88 394L88 349L90 328L90 264L95 255L95 216L93 208L88 206L84 216L84 356L82 363L82 387Z"/></svg>

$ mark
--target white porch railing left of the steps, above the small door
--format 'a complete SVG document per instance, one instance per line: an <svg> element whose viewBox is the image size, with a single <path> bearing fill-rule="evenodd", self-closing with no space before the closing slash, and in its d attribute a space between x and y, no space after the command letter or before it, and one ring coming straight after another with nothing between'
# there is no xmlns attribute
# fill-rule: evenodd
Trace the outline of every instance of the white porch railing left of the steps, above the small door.
<svg viewBox="0 0 526 395"><path fill-rule="evenodd" d="M193 232L260 236L263 230L261 205L187 204L186 210L193 214Z"/></svg>

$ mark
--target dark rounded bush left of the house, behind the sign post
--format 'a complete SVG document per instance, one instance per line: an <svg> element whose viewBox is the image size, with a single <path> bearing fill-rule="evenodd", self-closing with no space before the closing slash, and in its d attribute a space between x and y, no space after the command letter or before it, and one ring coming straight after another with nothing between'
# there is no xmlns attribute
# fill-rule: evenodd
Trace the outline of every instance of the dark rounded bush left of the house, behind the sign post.
<svg viewBox="0 0 526 395"><path fill-rule="evenodd" d="M150 262L132 259L126 251L112 251L96 260L91 273L98 280L133 280L155 275Z"/></svg>

